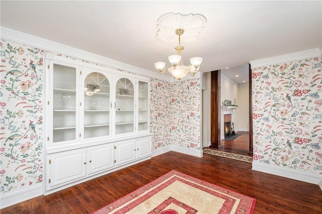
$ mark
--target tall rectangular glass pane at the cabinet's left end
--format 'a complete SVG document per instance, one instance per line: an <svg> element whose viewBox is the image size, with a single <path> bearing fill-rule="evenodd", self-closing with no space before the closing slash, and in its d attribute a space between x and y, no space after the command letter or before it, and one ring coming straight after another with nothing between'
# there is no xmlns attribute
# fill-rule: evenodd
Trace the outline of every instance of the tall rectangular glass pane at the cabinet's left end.
<svg viewBox="0 0 322 214"><path fill-rule="evenodd" d="M76 68L53 64L53 143L76 139Z"/></svg>

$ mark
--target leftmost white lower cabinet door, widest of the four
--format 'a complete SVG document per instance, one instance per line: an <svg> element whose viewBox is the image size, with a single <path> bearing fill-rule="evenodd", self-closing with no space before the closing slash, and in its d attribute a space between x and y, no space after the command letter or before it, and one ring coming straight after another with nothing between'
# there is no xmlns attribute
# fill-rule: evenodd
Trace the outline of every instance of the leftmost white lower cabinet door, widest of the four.
<svg viewBox="0 0 322 214"><path fill-rule="evenodd" d="M76 149L49 155L49 189L86 177L86 153L87 149Z"/></svg>

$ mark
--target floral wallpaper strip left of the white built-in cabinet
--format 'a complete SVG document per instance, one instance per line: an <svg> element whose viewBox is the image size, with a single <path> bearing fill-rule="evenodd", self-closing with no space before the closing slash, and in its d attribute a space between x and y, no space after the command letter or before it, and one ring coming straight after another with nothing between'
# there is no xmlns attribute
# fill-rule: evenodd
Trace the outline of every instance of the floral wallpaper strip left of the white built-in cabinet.
<svg viewBox="0 0 322 214"><path fill-rule="evenodd" d="M0 40L0 192L42 182L43 51Z"/></svg>

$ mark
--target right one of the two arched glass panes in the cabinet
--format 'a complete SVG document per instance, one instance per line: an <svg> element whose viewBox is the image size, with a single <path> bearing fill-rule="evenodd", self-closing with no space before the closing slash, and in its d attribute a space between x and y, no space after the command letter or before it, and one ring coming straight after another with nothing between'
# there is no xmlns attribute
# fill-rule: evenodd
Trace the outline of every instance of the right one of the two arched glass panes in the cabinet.
<svg viewBox="0 0 322 214"><path fill-rule="evenodd" d="M121 78L116 82L115 134L134 132L134 85Z"/></svg>

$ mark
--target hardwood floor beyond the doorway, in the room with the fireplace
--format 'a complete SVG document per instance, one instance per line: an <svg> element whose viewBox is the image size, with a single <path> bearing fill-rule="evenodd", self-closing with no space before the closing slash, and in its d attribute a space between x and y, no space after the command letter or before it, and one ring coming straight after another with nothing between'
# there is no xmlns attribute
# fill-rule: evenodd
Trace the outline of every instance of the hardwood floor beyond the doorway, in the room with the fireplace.
<svg viewBox="0 0 322 214"><path fill-rule="evenodd" d="M208 149L253 157L252 155L248 154L250 143L249 132L239 131L236 132L236 134L241 134L241 136L235 141L221 140L220 148L217 149L209 147Z"/></svg>

